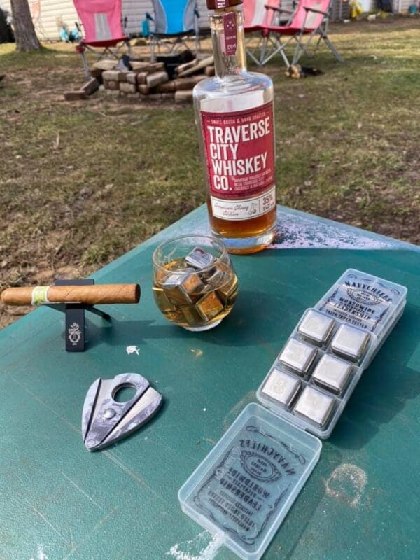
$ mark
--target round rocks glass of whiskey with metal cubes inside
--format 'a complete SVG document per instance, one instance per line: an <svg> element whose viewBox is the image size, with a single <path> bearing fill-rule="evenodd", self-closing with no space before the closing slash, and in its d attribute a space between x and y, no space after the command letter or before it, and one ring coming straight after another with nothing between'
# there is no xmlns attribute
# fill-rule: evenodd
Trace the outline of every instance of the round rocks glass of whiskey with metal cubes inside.
<svg viewBox="0 0 420 560"><path fill-rule="evenodd" d="M153 295L169 321L186 330L221 323L237 298L238 279L222 241L182 235L153 253Z"/></svg>

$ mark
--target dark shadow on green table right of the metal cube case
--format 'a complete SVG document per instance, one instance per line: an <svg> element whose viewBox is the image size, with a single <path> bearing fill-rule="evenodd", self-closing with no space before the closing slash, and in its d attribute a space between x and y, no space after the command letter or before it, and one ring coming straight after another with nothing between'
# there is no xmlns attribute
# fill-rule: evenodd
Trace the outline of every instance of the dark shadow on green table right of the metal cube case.
<svg viewBox="0 0 420 560"><path fill-rule="evenodd" d="M330 442L360 449L381 428L400 414L407 400L420 393L420 344L407 337L418 332L420 309L407 304L404 314L362 377L337 423ZM402 429L408 419L403 419ZM414 421L412 430L416 430Z"/></svg>

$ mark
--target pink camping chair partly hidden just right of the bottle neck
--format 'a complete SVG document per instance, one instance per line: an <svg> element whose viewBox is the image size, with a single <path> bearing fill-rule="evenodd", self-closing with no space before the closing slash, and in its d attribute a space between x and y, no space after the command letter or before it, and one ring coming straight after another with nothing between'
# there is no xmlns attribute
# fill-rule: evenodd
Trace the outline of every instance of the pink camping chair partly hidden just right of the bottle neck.
<svg viewBox="0 0 420 560"><path fill-rule="evenodd" d="M269 31L267 28L274 25L278 19L278 12L281 0L244 0L244 32L251 41L246 41L246 54L255 64L261 64L261 59L257 58L258 52L262 54L262 45ZM272 8L272 9L269 9ZM258 34L258 41L255 44L255 34Z"/></svg>

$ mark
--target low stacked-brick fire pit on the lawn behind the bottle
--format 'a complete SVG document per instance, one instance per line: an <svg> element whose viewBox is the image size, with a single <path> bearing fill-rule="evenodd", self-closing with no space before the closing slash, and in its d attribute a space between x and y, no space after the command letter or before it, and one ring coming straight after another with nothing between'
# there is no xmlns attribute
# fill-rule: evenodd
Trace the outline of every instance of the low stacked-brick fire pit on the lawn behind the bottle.
<svg viewBox="0 0 420 560"><path fill-rule="evenodd" d="M64 98L86 99L92 90L93 80L110 95L141 99L141 101L193 102L193 88L201 80L214 76L213 56L180 64L176 76L170 80L163 62L130 61L132 70L116 69L116 62L104 60L94 64L92 80L77 92L66 92ZM87 86L90 84L90 87Z"/></svg>

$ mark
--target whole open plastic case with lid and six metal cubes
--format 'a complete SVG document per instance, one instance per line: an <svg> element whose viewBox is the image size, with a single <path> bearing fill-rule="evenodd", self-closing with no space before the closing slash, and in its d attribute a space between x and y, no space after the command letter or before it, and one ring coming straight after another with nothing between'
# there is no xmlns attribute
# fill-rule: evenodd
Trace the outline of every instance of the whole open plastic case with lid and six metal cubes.
<svg viewBox="0 0 420 560"><path fill-rule="evenodd" d="M179 490L181 508L244 560L269 545L407 288L349 269L304 311L251 403ZM312 434L314 435L311 435ZM318 436L318 437L315 437Z"/></svg>

